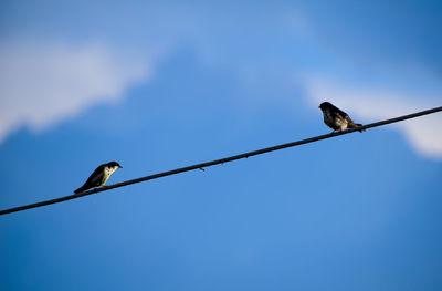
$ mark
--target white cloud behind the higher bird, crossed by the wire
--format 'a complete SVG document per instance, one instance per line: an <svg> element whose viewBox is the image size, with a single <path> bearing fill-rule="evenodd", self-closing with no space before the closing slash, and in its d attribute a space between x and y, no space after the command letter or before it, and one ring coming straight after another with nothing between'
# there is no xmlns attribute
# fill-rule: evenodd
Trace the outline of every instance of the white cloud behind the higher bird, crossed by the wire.
<svg viewBox="0 0 442 291"><path fill-rule="evenodd" d="M368 89L311 79L306 82L309 101L318 106L329 101L356 121L375 122L441 106L442 92L406 93L401 90ZM393 125L392 125L393 126ZM396 124L412 147L427 157L442 158L442 113L421 116Z"/></svg>

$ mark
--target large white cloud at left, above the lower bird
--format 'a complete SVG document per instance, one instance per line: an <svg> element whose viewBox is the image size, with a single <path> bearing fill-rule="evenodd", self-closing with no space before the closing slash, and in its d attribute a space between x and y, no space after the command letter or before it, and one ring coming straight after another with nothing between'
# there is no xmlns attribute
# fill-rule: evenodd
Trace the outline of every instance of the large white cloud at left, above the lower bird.
<svg viewBox="0 0 442 291"><path fill-rule="evenodd" d="M101 102L122 98L151 75L105 45L11 42L0 46L0 142L20 126L41 131Z"/></svg>

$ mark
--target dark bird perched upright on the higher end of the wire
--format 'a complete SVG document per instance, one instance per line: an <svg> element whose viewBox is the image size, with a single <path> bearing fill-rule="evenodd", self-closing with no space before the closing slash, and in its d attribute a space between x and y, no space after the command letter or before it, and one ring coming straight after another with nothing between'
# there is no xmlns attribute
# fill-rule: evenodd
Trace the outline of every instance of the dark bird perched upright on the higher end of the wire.
<svg viewBox="0 0 442 291"><path fill-rule="evenodd" d="M320 103L319 108L323 111L324 123L328 125L328 127L330 127L334 132L341 132L347 128L356 128L362 126L361 124L351 121L347 113L339 110L329 102ZM359 132L364 131L365 129L360 129Z"/></svg>

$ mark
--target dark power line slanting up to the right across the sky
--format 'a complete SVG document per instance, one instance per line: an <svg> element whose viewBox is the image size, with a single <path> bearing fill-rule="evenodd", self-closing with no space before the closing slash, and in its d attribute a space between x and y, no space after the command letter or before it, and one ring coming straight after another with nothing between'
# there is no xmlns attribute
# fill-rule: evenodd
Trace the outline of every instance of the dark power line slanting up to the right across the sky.
<svg viewBox="0 0 442 291"><path fill-rule="evenodd" d="M292 142L292 143L286 143L286 144L282 144L282 145L271 146L271 147L266 147L266 148L262 148L262 149L257 149L257 150L252 150L252 152L248 152L248 153L244 153L244 154L239 154L239 155L224 157L224 158L220 158L220 159L214 159L214 160L206 162L206 163L201 163L201 164L196 164L196 165L191 165L191 166L187 166L187 167L182 167L182 168L176 168L176 169L171 169L171 170L167 170L167 172L162 172L162 173L158 173L158 174L154 174L154 175L149 175L149 176L131 179L131 180L126 180L126 181L122 181L122 183L117 183L117 184L113 184L113 185L108 185L108 186L103 186L101 188L91 189L91 190L87 190L87 191L84 191L84 193L81 193L81 194L63 196L63 197L55 198L55 199L50 199L50 200L40 201L40 202L35 202L35 204L30 204L30 205L23 205L23 206L19 206L19 207L14 207L14 208L9 208L9 209L0 210L0 215L7 215L7 214L18 212L18 211L22 211L22 210L27 210L27 209L31 209L31 208L36 208L36 207L42 207L42 206L46 206L46 205L51 205L51 204L57 204L57 202L62 202L62 201L67 201L67 200L76 199L76 198L80 198L80 197L83 197L83 196L87 196L87 195L91 195L91 194L101 193L101 191L107 191L107 190L110 190L110 189L114 189L114 188L119 188L119 187L124 187L124 186L128 186L128 185L131 185L131 184L146 181L146 180L158 179L158 178L161 178L161 177L171 176L171 175L176 175L176 174L179 174L179 173L185 173L185 172L189 172L189 170L193 170L193 169L204 169L204 168L210 167L210 166L224 164L224 163L236 160L236 159L241 159L241 158L248 158L248 157L251 157L251 156L257 156L257 155L262 155L262 154L274 152L274 150L280 150L280 149L283 149L283 148L287 148L287 147L294 147L294 146L298 146L298 145L309 144L309 143L313 143L313 142L327 139L327 138L336 137L336 136L339 136L339 135L349 134L349 133L352 133L352 132L356 132L356 131L360 131L360 129L368 129L368 128L372 128L372 127L387 125L387 124L390 124L390 123L402 122L402 121L406 121L406 119L415 118L415 117L419 117L419 116L422 116L422 115L428 115L428 114L432 114L432 113L440 112L440 111L442 111L442 106L435 107L435 108L431 108L431 110L427 110L427 111L417 112L417 113L409 114L409 115L403 115L403 116L391 118L391 119L386 119L386 121L381 121L381 122L367 124L367 125L364 125L364 126L360 126L360 127L357 127L357 128L347 129L347 131L344 131L344 132L335 132L335 133L330 133L330 134L319 135L319 136L315 136L315 137L311 137L311 138L306 138L306 139L302 139L302 141L297 141L297 142Z"/></svg>

